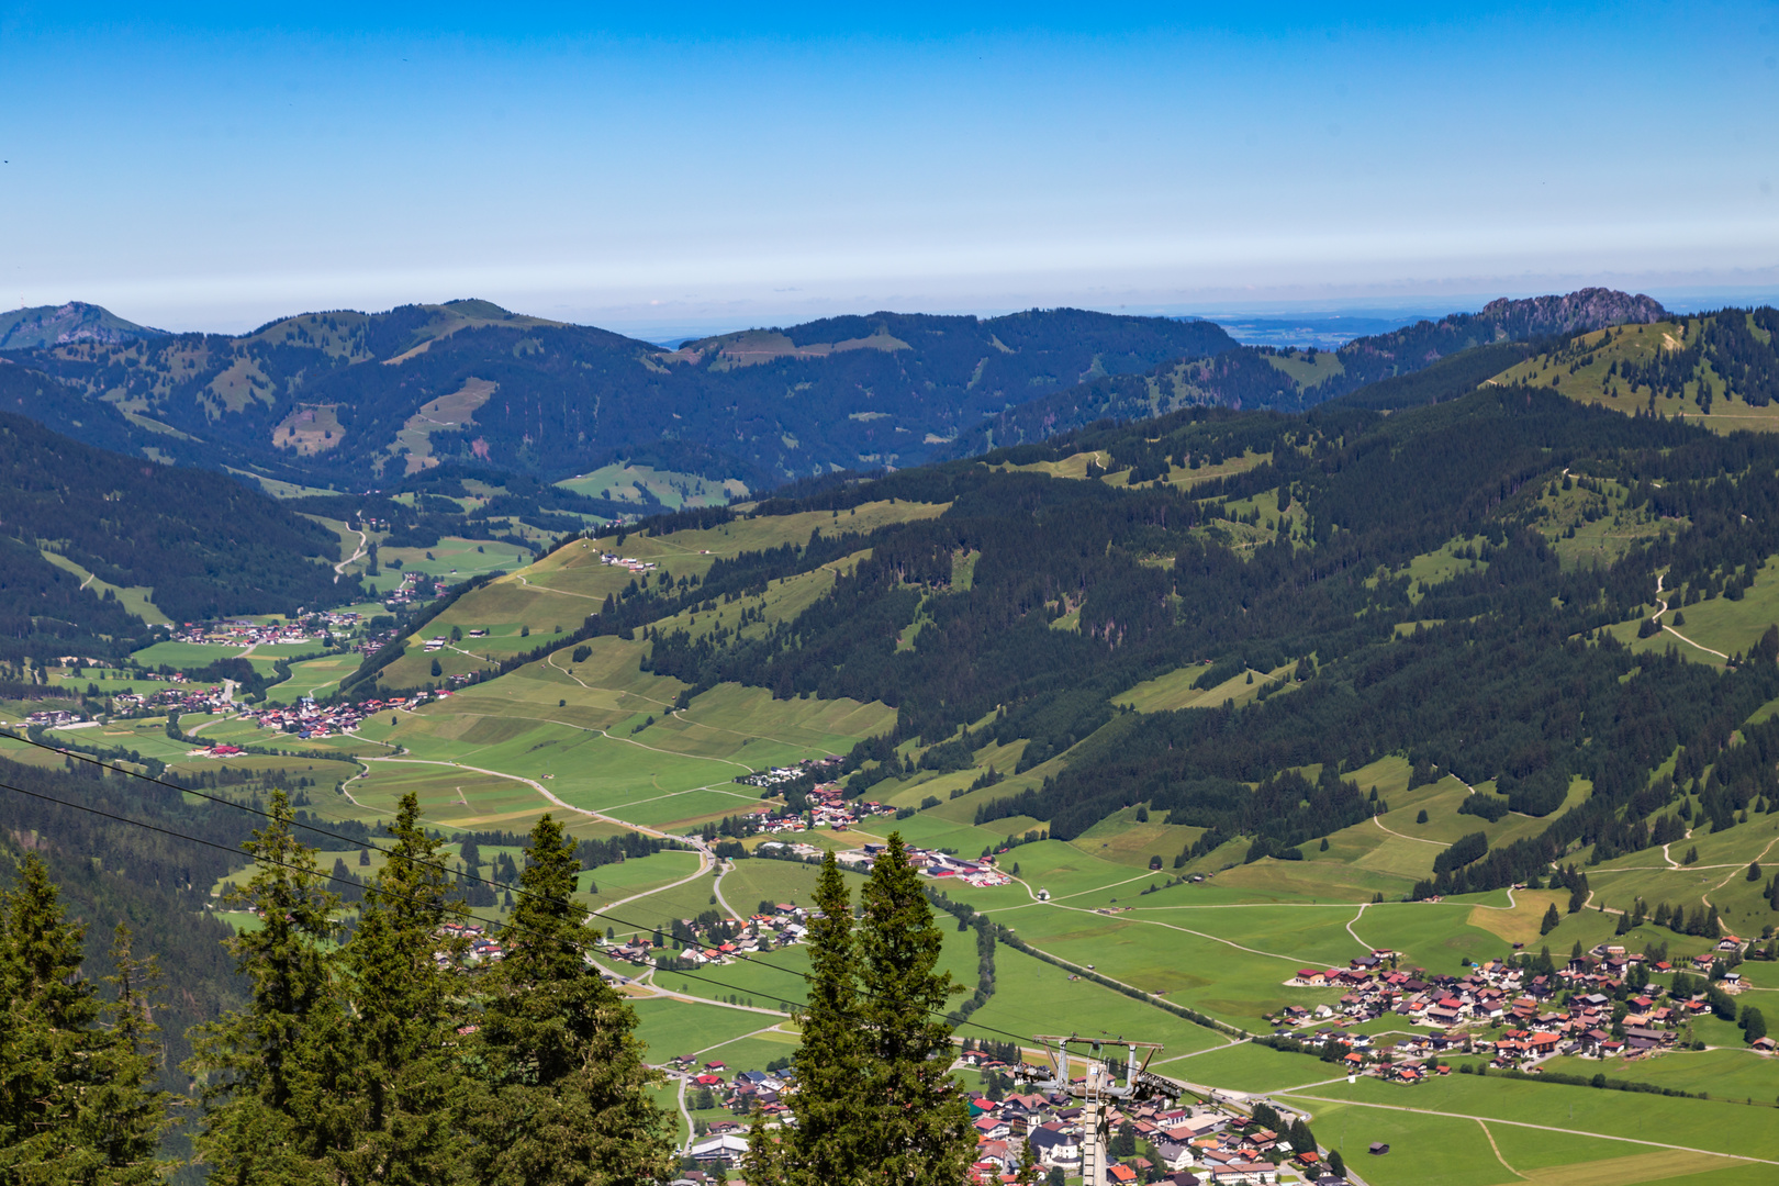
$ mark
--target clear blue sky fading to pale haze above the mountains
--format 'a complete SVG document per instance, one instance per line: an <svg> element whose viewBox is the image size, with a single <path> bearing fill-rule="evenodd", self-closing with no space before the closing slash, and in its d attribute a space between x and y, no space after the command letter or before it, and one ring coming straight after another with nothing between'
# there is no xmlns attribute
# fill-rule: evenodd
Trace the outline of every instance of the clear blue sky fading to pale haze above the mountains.
<svg viewBox="0 0 1779 1186"><path fill-rule="evenodd" d="M1779 4L1468 7L7 4L0 302L667 336L1779 292Z"/></svg>

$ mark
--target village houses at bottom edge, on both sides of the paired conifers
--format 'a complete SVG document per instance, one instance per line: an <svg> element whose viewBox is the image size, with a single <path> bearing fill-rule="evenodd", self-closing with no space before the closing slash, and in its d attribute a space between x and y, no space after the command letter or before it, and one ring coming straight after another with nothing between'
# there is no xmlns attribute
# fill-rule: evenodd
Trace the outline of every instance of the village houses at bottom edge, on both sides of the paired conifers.
<svg viewBox="0 0 1779 1186"><path fill-rule="evenodd" d="M1016 1070L982 1051L964 1053L961 1067ZM728 1166L740 1163L747 1150L745 1118L760 1115L765 1124L783 1124L790 1106L786 1097L797 1086L790 1072L742 1070L731 1074L720 1062L697 1063L692 1054L681 1054L671 1072L683 1076L688 1088L706 1088L712 1097L737 1120L719 1120L692 1142L690 1158L706 1174L717 1177ZM1082 1174L1085 1131L1082 1108L1067 1095L1012 1094L1003 1099L975 1095L970 1099L970 1122L975 1129L975 1163L970 1179L980 1184L1010 1182L1025 1159L1026 1149L1048 1174L1062 1170L1066 1177ZM1112 1145L1124 1145L1124 1156L1107 1158L1103 1182L1089 1186L1117 1186L1126 1182L1160 1181L1171 1186L1272 1186L1300 1179L1329 1182L1341 1179L1327 1175L1315 1152L1297 1154L1281 1133L1254 1124L1249 1117L1217 1104L1190 1108L1167 1102L1133 1104L1110 1113ZM1128 1152L1135 1149L1137 1152Z"/></svg>

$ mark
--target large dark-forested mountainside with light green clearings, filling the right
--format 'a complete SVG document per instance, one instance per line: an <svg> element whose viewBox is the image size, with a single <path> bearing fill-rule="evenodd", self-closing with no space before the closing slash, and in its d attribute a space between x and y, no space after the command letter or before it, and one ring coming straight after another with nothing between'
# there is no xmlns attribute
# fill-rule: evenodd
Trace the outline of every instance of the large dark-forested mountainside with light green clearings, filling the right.
<svg viewBox="0 0 1779 1186"><path fill-rule="evenodd" d="M1507 884L1576 843L1649 845L1686 789L1688 818L1724 827L1779 804L1772 770L1653 781L1678 747L1704 773L1779 697L1779 629L1754 608L1775 471L1779 437L1532 386L1389 416L1187 409L747 509L817 530L626 589L537 654L637 637L694 715L719 685L890 704L895 727L847 759L850 793L977 766L982 825L1073 839L1142 804L1203 829L1181 859L1236 836L1292 855L1377 811L1341 772L1405 756L1485 784L1487 818L1550 820L1466 873ZM911 503L927 510L850 526ZM761 613L817 569L804 608ZM1724 617L1727 661L1651 624L1658 597L1751 606ZM758 608L731 621L735 603ZM1135 688L1163 693L1131 711Z"/></svg>

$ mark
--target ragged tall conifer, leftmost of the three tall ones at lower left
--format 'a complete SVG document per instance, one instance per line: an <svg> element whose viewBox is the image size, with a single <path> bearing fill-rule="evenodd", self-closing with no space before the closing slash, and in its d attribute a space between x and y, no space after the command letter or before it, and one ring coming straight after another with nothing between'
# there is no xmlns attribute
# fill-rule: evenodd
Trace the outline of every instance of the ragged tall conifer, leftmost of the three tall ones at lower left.
<svg viewBox="0 0 1779 1186"><path fill-rule="evenodd" d="M246 845L253 878L224 896L224 905L262 921L228 941L249 1003L192 1030L185 1063L201 1085L194 1145L212 1182L297 1182L313 1174L295 1143L295 1081L304 1035L331 998L326 942L338 898L324 889L315 850L292 834L283 791L272 791L267 814L270 823Z"/></svg>

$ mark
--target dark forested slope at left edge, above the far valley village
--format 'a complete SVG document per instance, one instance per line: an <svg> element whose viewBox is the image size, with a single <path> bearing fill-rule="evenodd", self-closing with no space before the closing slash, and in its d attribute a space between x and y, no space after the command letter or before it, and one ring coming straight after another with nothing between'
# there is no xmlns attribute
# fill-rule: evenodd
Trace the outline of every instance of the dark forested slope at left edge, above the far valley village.
<svg viewBox="0 0 1779 1186"><path fill-rule="evenodd" d="M4 370L4 368L0 368ZM221 473L93 448L0 413L0 654L121 654L146 624L93 581L148 589L174 621L338 603L338 539ZM52 564L53 553L64 564Z"/></svg>

